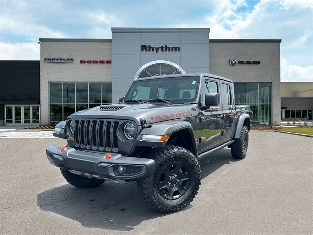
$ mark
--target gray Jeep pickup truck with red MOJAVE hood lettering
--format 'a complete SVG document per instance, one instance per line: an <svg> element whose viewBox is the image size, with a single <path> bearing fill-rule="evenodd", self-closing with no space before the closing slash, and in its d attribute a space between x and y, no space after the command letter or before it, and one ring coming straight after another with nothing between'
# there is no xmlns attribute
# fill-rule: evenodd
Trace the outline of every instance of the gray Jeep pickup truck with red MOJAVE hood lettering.
<svg viewBox="0 0 313 235"><path fill-rule="evenodd" d="M143 200L168 213L187 206L200 186L199 160L224 147L246 157L249 106L234 105L231 80L207 73L135 80L118 104L78 111L46 150L51 164L79 188L136 181Z"/></svg>

